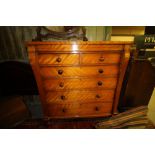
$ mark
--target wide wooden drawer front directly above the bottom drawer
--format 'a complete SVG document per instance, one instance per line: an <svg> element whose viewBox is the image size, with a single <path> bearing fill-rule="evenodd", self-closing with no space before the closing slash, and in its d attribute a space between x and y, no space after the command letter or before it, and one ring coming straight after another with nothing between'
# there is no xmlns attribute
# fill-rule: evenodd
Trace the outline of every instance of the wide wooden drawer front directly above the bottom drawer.
<svg viewBox="0 0 155 155"><path fill-rule="evenodd" d="M96 91L55 91L47 92L47 103L69 103L72 102L112 102L114 97L114 90L96 90Z"/></svg>

